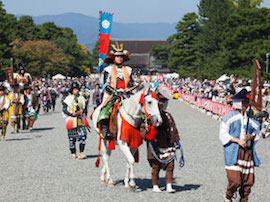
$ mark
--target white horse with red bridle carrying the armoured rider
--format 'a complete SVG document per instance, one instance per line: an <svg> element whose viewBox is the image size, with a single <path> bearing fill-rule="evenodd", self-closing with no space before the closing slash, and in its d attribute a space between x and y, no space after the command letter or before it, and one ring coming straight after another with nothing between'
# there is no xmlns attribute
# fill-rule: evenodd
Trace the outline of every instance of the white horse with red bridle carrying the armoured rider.
<svg viewBox="0 0 270 202"><path fill-rule="evenodd" d="M102 106L102 104L99 105L92 114L93 125L98 134L100 134L100 131L97 127L97 120ZM117 115L118 132L116 142L119 145L120 150L127 158L127 170L124 179L125 188L134 189L136 187L136 183L134 180L134 155L137 152L138 148L131 148L129 143L125 141L125 138L121 138L121 126L122 124L128 122L130 125L139 128L142 115L145 115L147 119L150 119L153 126L155 127L161 125L162 123L162 118L158 108L158 98L154 91L150 89L150 87L144 88L143 90L138 91L134 95L131 95L129 98L124 99L119 106L119 113ZM100 144L104 165L101 170L101 176L99 178L99 181L101 184L104 184L107 181L109 186L114 186L108 164L108 160L111 155L111 150L107 148L109 140L106 140L104 138L101 139L100 137Z"/></svg>

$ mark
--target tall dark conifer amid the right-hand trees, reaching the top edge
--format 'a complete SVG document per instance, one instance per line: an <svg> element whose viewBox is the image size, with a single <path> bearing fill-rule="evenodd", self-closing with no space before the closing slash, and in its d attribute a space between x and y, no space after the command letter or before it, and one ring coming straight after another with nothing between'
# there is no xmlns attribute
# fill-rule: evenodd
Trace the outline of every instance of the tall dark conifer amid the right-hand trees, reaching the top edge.
<svg viewBox="0 0 270 202"><path fill-rule="evenodd" d="M201 0L198 6L201 24L198 36L199 78L216 78L223 71L220 61L220 44L228 30L226 21L232 11L228 1Z"/></svg>

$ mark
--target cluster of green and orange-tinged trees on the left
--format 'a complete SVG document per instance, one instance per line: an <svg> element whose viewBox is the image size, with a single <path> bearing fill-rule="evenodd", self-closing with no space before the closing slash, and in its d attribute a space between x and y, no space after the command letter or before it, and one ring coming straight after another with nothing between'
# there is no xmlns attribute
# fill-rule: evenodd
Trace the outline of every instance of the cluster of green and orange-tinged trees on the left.
<svg viewBox="0 0 270 202"><path fill-rule="evenodd" d="M3 69L14 59L15 71L19 63L33 76L62 73L66 76L88 75L94 58L89 49L77 42L70 28L53 22L36 25L31 16L17 19L8 14L0 1L0 78Z"/></svg>

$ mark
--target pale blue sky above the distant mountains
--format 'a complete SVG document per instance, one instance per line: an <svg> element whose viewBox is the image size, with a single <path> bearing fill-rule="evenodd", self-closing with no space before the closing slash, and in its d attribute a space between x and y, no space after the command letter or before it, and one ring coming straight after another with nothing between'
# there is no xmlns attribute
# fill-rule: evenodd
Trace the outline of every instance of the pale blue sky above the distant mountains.
<svg viewBox="0 0 270 202"><path fill-rule="evenodd" d="M2 0L13 14L47 15L65 12L98 16L98 11L114 12L117 22L178 22L185 13L197 12L200 0ZM270 0L263 6L270 7Z"/></svg>

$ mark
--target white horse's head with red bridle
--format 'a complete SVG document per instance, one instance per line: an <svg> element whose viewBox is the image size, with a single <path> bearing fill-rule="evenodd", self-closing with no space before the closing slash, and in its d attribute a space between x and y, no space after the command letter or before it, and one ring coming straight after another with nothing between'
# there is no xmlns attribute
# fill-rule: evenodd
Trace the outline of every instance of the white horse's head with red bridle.
<svg viewBox="0 0 270 202"><path fill-rule="evenodd" d="M142 100L143 99L143 100ZM160 126L162 118L158 108L158 97L155 91L147 88L143 91L140 103L143 105L143 112L147 118L151 118L151 121L155 127Z"/></svg>

